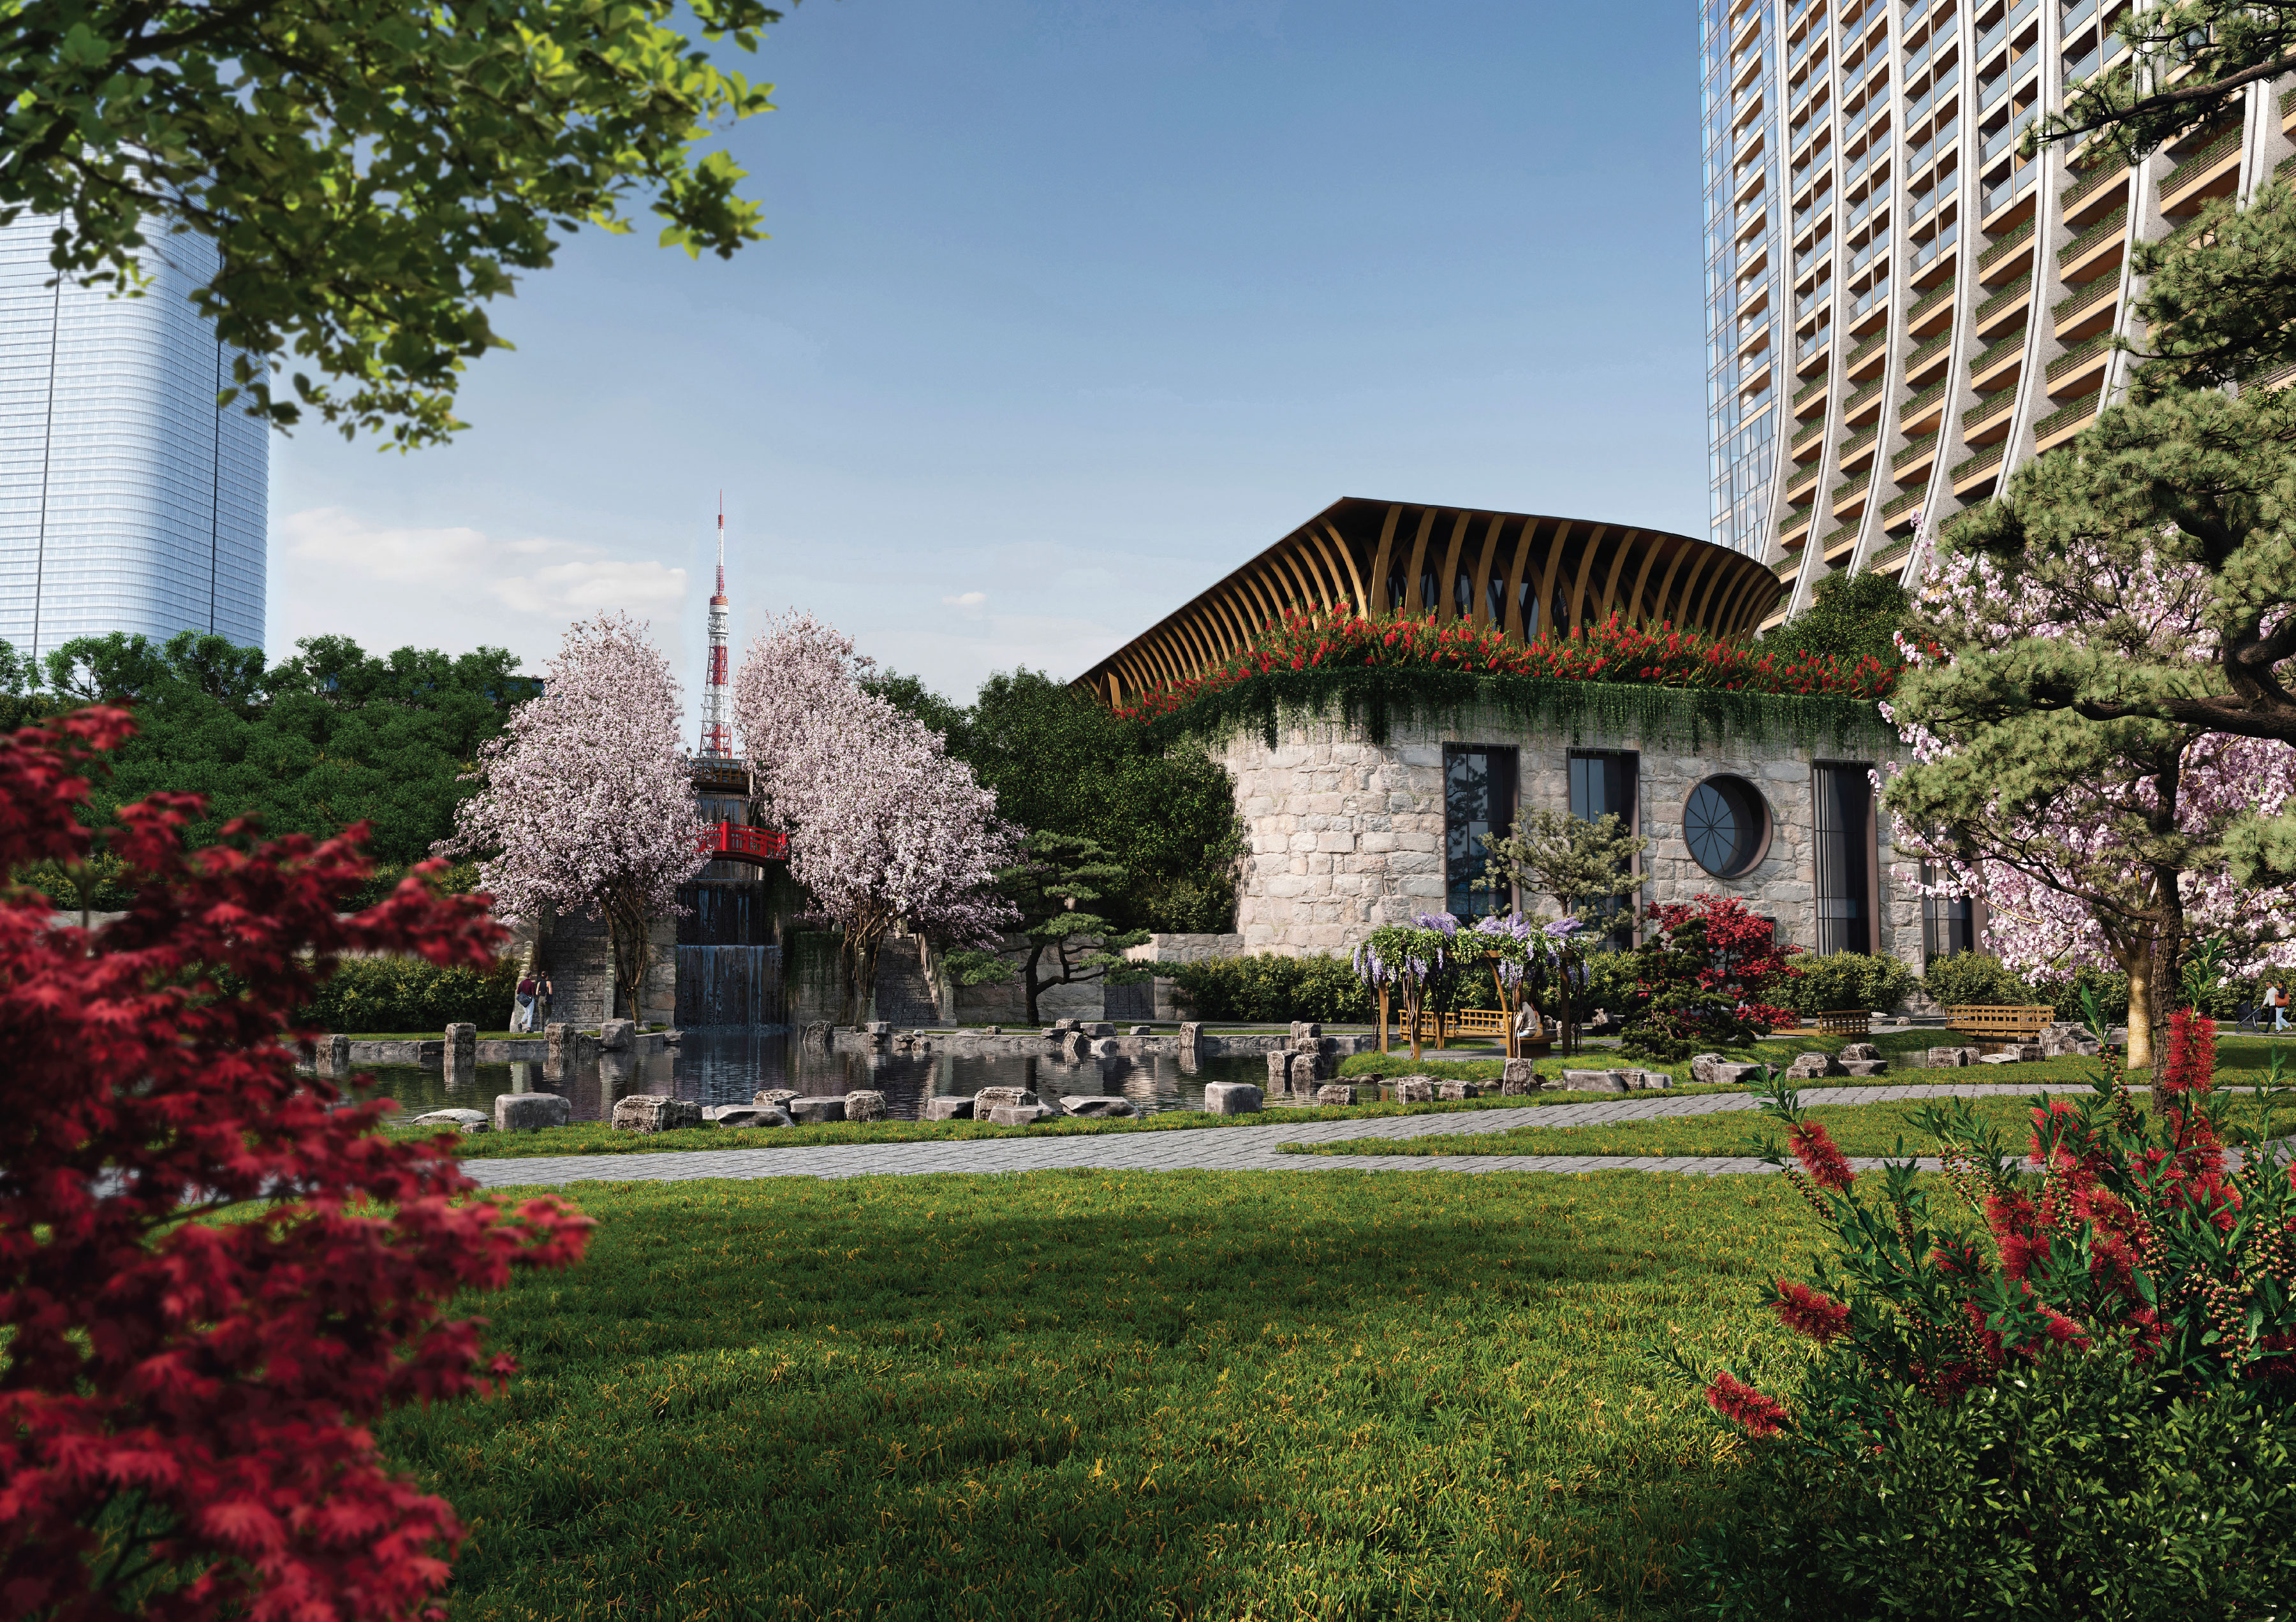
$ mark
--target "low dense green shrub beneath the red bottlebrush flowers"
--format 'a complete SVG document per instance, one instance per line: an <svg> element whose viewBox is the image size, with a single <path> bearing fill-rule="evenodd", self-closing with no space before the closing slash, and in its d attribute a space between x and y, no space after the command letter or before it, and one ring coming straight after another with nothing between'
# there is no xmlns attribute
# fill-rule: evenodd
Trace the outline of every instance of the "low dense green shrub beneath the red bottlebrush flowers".
<svg viewBox="0 0 2296 1622"><path fill-rule="evenodd" d="M1938 1406L1896 1395L1864 1459L1756 1443L1685 1588L1720 1622L2287 1615L2296 1411L2181 1397L2124 1356L2069 1354Z"/></svg>

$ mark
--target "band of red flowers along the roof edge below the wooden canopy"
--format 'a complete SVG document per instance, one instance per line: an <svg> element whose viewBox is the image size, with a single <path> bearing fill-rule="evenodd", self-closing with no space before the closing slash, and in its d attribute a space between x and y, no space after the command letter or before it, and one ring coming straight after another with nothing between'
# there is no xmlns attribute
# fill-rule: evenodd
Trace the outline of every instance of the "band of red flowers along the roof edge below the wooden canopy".
<svg viewBox="0 0 2296 1622"><path fill-rule="evenodd" d="M1674 688L1720 688L1727 693L1798 693L1805 697L1887 697L1903 665L1874 656L1763 654L1738 642L1676 631L1671 624L1644 631L1612 615L1596 626L1573 626L1564 635L1541 633L1520 642L1497 626L1463 619L1368 617L1352 603L1336 608L1288 608L1270 619L1258 647L1217 670L1143 693L1118 709L1125 720L1159 720L1199 697L1221 693L1270 670L1419 665L1495 677L1548 677L1552 681L1639 681Z"/></svg>

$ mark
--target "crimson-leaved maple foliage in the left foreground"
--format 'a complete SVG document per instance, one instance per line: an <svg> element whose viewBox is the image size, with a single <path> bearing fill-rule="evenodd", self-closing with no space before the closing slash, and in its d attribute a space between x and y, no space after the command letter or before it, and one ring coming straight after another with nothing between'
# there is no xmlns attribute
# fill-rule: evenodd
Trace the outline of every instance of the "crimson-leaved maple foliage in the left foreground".
<svg viewBox="0 0 2296 1622"><path fill-rule="evenodd" d="M0 872L80 863L92 709L0 739ZM461 1528L386 1468L386 1409L496 1388L512 1363L459 1289L565 1266L588 1218L468 1202L448 1140L374 1131L294 1071L294 1026L344 952L484 966L480 897L427 863L356 915L365 828L186 851L195 796L119 812L135 904L51 927L0 892L0 1613L441 1615Z"/></svg>

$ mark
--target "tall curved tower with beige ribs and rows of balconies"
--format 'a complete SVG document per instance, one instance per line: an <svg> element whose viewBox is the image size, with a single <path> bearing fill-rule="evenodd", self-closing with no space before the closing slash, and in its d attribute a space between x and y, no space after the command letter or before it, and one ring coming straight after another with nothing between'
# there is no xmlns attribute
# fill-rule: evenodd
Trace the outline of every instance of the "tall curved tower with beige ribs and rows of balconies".
<svg viewBox="0 0 2296 1622"><path fill-rule="evenodd" d="M1713 539L1903 571L2128 383L2131 248L2296 165L2296 76L2135 170L2018 138L2135 0L1701 0Z"/></svg>

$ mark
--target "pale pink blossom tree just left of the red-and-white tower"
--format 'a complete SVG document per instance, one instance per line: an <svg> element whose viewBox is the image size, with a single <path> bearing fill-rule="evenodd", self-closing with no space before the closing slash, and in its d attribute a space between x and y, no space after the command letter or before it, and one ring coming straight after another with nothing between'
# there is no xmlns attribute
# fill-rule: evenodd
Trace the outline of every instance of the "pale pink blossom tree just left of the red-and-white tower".
<svg viewBox="0 0 2296 1622"><path fill-rule="evenodd" d="M542 697L510 713L471 775L482 787L436 851L480 856L480 886L510 922L604 913L618 1007L636 1019L652 920L677 909L677 886L705 860L677 679L645 624L599 615L569 626Z"/></svg>

